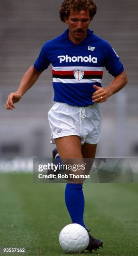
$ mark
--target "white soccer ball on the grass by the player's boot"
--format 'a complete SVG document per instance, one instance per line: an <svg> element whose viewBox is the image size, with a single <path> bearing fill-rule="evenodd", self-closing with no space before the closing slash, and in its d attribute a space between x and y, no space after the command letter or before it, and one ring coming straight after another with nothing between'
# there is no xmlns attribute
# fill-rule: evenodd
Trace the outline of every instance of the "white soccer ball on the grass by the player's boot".
<svg viewBox="0 0 138 256"><path fill-rule="evenodd" d="M88 232L83 226L73 223L66 225L59 235L60 246L69 253L82 252L89 243Z"/></svg>

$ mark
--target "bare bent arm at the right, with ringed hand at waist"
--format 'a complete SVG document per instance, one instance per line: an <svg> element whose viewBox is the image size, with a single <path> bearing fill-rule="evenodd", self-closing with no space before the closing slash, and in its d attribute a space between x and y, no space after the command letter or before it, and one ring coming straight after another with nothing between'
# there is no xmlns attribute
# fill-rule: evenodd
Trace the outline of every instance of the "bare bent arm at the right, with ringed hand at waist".
<svg viewBox="0 0 138 256"><path fill-rule="evenodd" d="M119 74L113 79L113 81L106 87L98 87L94 85L96 92L93 93L93 102L101 103L104 102L116 92L119 92L128 82L127 75L125 71Z"/></svg>

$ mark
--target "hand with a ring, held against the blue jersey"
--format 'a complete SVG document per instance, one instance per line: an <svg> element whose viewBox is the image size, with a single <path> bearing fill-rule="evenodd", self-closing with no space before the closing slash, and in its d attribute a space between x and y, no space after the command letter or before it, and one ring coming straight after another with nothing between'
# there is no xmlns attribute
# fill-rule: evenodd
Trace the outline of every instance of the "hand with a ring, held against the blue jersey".
<svg viewBox="0 0 138 256"><path fill-rule="evenodd" d="M102 88L99 87L97 85L93 85L93 88L96 90L96 92L93 93L92 99L93 99L93 103L97 102L97 103L101 103L104 102L108 99L109 92L108 90L106 90L106 88Z"/></svg>

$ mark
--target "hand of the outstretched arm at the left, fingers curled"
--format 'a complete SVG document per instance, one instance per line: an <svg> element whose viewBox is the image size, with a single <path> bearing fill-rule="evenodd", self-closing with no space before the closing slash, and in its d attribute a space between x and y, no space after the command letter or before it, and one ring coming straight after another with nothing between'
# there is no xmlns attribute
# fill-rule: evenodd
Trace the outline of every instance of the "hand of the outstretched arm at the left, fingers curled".
<svg viewBox="0 0 138 256"><path fill-rule="evenodd" d="M8 96L8 100L5 104L5 108L7 110L13 110L15 108L13 103L18 102L21 98L22 98L22 94L20 92L10 93L9 96Z"/></svg>

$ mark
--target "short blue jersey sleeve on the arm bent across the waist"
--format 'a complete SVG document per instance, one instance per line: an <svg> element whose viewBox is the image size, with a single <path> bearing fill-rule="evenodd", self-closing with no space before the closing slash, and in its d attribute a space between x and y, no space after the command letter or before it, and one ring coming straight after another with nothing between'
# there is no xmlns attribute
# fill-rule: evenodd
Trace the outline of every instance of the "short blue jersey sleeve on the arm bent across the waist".
<svg viewBox="0 0 138 256"><path fill-rule="evenodd" d="M105 49L104 66L113 77L118 76L124 70L123 64L119 60L118 54L108 43L106 44Z"/></svg>

